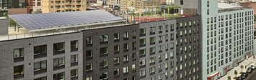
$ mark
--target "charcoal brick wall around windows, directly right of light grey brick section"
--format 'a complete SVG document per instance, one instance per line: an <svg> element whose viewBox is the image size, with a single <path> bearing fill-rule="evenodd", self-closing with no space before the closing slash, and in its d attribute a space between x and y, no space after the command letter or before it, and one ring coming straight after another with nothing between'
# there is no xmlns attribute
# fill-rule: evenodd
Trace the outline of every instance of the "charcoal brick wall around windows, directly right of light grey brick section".
<svg viewBox="0 0 256 80"><path fill-rule="evenodd" d="M87 46L84 44L84 54L86 54L86 51L92 50L93 56L92 59L87 59L84 55L83 59L83 73L84 73L84 79L86 79L89 76L92 76L93 79L99 80L100 74L107 72L107 79L113 80L113 79L125 79L128 78L129 80L132 79L133 76L136 76L136 80L139 79L138 72L139 72L139 56L138 56L138 39L139 39L139 31L138 31L138 24L136 25L128 25L128 26L116 26L116 27L110 27L110 28L102 28L102 29L89 29L83 31L83 39L86 43L87 37L92 37L93 42L92 46ZM125 31L128 31L128 40L124 40L123 33ZM132 31L136 31L136 39L132 37ZM120 34L120 40L114 41L114 34L119 33ZM100 44L100 35L107 34L107 44ZM136 49L132 48L132 43L136 42ZM124 51L123 45L128 43L128 51ZM114 46L119 45L120 51L119 54L114 54ZM100 57L100 48L107 47L107 55ZM136 61L132 60L132 54L136 54ZM128 63L124 63L123 56L128 55ZM119 65L115 66L114 64L114 57L120 57L119 58ZM107 67L105 69L100 69L100 61L107 59ZM92 72L86 71L86 65L92 64ZM132 65L136 64L136 71L132 71ZM128 74L123 74L123 67L128 66ZM119 77L114 76L114 70L119 69Z"/></svg>

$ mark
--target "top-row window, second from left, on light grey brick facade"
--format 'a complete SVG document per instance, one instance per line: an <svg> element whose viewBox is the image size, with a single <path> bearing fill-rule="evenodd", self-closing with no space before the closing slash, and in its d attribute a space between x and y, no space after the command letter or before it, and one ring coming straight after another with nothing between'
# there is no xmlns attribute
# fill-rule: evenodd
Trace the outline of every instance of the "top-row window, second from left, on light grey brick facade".
<svg viewBox="0 0 256 80"><path fill-rule="evenodd" d="M46 54L46 45L43 46L34 46L34 55L38 55L38 54Z"/></svg>

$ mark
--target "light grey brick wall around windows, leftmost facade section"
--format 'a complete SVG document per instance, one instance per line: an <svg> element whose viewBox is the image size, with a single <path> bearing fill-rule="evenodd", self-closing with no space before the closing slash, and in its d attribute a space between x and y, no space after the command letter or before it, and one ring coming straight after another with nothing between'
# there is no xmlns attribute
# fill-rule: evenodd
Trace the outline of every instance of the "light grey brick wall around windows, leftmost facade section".
<svg viewBox="0 0 256 80"><path fill-rule="evenodd" d="M0 79L14 79L14 66L24 65L24 77L19 79L37 79L47 76L47 79L53 79L53 74L65 72L65 79L71 79L71 70L78 69L78 79L81 80L82 73L82 36L81 32L71 34L58 34L53 36L40 36L27 39L16 39L9 41L0 41ZM78 51L71 51L71 41L78 40ZM53 55L53 44L65 42L65 53ZM17 44L19 43L19 44ZM34 46L47 45L47 56L34 58ZM14 62L14 49L24 48L24 60ZM78 54L78 65L71 66L71 55ZM65 57L65 68L53 70L53 59ZM34 75L34 62L47 60L47 72Z"/></svg>

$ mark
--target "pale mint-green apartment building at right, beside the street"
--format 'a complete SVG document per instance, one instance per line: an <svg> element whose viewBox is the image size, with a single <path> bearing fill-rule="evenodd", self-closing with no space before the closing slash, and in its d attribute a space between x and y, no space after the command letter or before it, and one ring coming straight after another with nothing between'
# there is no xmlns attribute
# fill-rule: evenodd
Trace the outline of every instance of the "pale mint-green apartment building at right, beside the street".
<svg viewBox="0 0 256 80"><path fill-rule="evenodd" d="M218 79L253 54L253 9L202 1L202 79Z"/></svg>

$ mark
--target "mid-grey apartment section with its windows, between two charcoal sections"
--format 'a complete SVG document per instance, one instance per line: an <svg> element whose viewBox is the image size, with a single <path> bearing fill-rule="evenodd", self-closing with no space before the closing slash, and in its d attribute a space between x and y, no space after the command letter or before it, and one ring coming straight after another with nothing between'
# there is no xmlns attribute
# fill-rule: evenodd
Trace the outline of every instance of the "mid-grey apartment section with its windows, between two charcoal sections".
<svg viewBox="0 0 256 80"><path fill-rule="evenodd" d="M139 24L139 78L175 79L175 19Z"/></svg>

